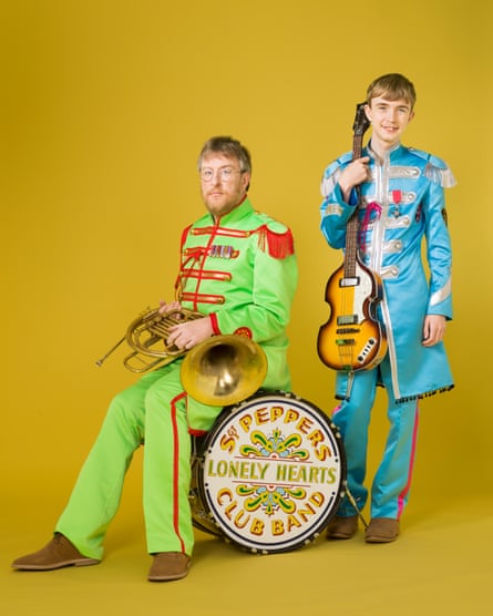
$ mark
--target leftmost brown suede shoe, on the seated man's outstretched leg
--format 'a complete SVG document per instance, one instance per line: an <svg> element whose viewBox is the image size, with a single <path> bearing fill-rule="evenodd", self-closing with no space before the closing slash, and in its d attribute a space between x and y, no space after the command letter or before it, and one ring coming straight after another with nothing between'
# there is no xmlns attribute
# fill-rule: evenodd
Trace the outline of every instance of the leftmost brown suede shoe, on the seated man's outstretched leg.
<svg viewBox="0 0 493 616"><path fill-rule="evenodd" d="M17 558L11 566L24 571L50 571L71 565L83 567L99 563L100 561L82 555L61 533L55 533L42 550Z"/></svg>

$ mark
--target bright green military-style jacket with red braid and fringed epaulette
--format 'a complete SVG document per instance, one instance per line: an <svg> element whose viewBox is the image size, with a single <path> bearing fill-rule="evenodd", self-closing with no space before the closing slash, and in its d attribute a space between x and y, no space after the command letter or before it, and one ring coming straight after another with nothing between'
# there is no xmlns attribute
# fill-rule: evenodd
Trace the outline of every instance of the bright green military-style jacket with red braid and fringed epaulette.
<svg viewBox="0 0 493 616"><path fill-rule="evenodd" d="M182 235L176 298L209 315L215 333L247 336L264 349L263 387L290 390L286 327L298 283L291 232L246 198L215 220L207 213Z"/></svg>

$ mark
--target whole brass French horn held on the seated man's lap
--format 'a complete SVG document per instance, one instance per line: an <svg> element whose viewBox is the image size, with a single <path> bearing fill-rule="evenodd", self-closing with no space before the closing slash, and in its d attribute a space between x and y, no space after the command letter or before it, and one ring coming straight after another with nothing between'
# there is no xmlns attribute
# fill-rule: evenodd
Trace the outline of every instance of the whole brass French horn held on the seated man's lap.
<svg viewBox="0 0 493 616"><path fill-rule="evenodd" d="M147 310L134 319L125 336L101 359L104 360L124 341L133 349L123 365L132 372L146 372L185 356L181 380L185 391L204 404L227 407L251 396L267 374L263 348L244 336L213 336L191 350L166 346L170 328L204 317L202 312L179 309L160 314Z"/></svg>

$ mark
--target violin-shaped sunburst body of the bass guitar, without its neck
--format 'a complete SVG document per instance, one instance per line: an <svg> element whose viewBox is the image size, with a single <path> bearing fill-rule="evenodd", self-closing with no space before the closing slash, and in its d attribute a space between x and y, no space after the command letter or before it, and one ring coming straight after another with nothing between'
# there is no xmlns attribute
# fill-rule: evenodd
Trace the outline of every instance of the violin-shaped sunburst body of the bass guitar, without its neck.
<svg viewBox="0 0 493 616"><path fill-rule="evenodd" d="M380 277L356 259L353 276L341 265L326 286L330 317L318 332L320 360L345 372L370 370L387 352L387 339L377 319L377 305L382 297Z"/></svg>

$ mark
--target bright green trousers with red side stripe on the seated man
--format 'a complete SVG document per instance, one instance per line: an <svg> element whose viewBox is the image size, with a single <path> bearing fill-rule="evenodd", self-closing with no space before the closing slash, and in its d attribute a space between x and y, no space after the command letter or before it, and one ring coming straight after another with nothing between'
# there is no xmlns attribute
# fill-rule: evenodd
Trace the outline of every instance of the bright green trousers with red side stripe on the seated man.
<svg viewBox="0 0 493 616"><path fill-rule="evenodd" d="M186 396L181 363L145 374L112 400L55 526L84 556L103 557L104 536L117 512L125 473L142 444L147 551L192 554L191 427L209 430L222 408Z"/></svg>

